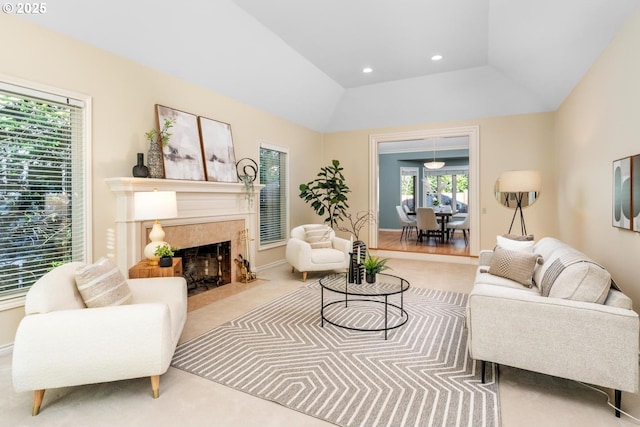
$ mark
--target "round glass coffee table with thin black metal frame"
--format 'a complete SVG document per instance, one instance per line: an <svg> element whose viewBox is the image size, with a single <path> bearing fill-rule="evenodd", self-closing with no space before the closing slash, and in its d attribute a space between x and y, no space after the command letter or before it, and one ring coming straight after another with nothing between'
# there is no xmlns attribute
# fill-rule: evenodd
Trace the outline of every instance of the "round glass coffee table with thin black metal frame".
<svg viewBox="0 0 640 427"><path fill-rule="evenodd" d="M331 274L320 279L320 317L322 319L320 326L324 326L324 322L327 322L353 331L384 331L386 340L388 331L407 323L409 314L404 309L404 292L409 289L409 282L401 277L384 273L378 273L376 279L375 283L348 283L347 273ZM325 290L344 295L344 298L325 302ZM389 299L393 296L396 296L399 301L390 302ZM366 309L366 316L370 318L372 314L368 311L376 304L384 307L384 318L381 316L379 322L371 322L371 327L349 323L358 317L358 310ZM354 312L347 313L348 310Z"/></svg>

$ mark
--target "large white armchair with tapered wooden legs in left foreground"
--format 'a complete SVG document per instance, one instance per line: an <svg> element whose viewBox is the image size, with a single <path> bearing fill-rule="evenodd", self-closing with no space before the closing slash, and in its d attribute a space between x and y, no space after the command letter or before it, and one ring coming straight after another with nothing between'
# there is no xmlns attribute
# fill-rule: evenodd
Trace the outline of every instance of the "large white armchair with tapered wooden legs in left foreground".
<svg viewBox="0 0 640 427"><path fill-rule="evenodd" d="M116 298L124 300L87 308L96 301L85 303L76 284L78 271L86 268L79 262L57 267L27 293L12 375L16 391L34 391L33 415L50 388L150 377L158 397L160 375L169 368L186 322L183 278L127 280L115 271L120 288L126 288Z"/></svg>

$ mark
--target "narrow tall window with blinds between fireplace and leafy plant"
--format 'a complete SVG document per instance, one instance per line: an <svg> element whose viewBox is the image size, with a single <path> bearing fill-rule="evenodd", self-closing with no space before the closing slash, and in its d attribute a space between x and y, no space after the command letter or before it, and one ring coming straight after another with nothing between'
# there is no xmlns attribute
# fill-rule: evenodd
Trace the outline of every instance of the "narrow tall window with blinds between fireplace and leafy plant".
<svg viewBox="0 0 640 427"><path fill-rule="evenodd" d="M288 150L260 145L260 247L286 243L289 235Z"/></svg>

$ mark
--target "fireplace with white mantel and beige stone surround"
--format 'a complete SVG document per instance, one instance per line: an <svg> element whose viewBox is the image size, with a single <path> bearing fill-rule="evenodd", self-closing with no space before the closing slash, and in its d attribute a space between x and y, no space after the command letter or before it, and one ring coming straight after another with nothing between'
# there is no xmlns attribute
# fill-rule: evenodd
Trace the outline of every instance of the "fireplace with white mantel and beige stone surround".
<svg viewBox="0 0 640 427"><path fill-rule="evenodd" d="M175 191L178 218L162 220L165 241L181 249L230 242L230 281L239 281L233 261L239 255L255 265L257 207L249 204L241 183L183 181L148 178L109 178L105 180L116 195L115 244L111 254L122 271L138 263L148 242L153 221L136 221L133 194L137 191ZM262 185L254 185L253 200ZM249 240L243 239L244 235ZM184 269L184 265L183 265Z"/></svg>

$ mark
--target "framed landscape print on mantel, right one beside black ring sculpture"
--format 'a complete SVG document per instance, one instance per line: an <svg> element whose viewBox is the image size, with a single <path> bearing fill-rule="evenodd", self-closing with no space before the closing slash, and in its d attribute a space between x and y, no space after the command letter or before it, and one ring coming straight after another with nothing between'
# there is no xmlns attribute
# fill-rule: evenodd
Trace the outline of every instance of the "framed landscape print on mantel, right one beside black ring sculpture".
<svg viewBox="0 0 640 427"><path fill-rule="evenodd" d="M231 125L198 117L207 181L238 182Z"/></svg>

